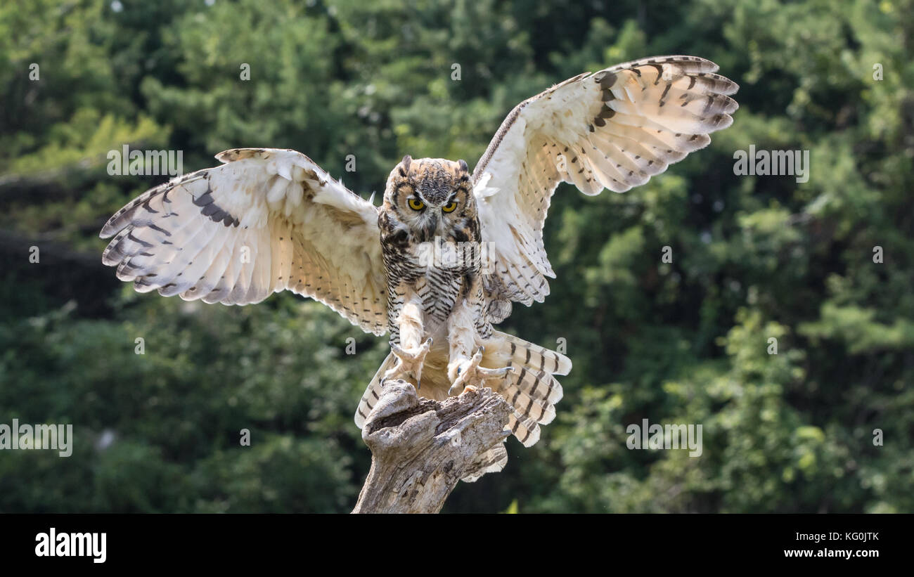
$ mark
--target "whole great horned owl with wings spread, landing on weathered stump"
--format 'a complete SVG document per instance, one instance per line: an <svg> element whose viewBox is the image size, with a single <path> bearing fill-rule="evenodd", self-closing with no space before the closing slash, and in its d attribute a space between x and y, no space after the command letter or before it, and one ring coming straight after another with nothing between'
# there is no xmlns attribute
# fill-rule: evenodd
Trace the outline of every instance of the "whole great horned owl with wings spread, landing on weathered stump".
<svg viewBox="0 0 914 577"><path fill-rule="evenodd" d="M472 173L462 160L405 156L379 207L300 152L220 152L222 165L112 215L102 261L140 292L245 305L288 289L388 333L358 426L391 379L436 400L488 386L531 446L555 417L556 375L571 362L494 325L512 303L549 293L552 195L563 182L622 193L707 146L738 108L737 84L716 72L704 58L668 56L565 80L511 110ZM505 459L495 452L485 471Z"/></svg>

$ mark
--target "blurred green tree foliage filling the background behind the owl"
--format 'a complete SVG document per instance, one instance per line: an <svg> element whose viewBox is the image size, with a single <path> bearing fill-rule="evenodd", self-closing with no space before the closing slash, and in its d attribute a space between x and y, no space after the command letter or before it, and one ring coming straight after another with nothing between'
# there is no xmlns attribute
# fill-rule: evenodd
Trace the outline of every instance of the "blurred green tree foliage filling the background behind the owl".
<svg viewBox="0 0 914 577"><path fill-rule="evenodd" d="M0 451L0 510L342 512L367 473L352 413L386 342L290 294L118 286L98 230L164 177L108 151L288 147L379 193L405 153L473 165L552 83L678 53L739 82L734 125L627 194L559 187L552 295L505 322L567 341L558 418L445 510L914 511L909 0L209 4L0 7L0 423L75 435ZM749 145L810 151L809 181L734 175ZM629 450L645 418L702 425L702 455Z"/></svg>

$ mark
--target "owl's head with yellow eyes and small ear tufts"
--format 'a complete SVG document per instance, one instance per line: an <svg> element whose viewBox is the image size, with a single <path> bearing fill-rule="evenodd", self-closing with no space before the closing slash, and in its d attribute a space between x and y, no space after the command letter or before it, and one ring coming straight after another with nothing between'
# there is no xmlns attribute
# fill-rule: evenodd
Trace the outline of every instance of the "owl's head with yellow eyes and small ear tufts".
<svg viewBox="0 0 914 577"><path fill-rule="evenodd" d="M464 161L404 156L388 176L384 210L420 242L435 236L470 240L463 238L476 219L470 169Z"/></svg>

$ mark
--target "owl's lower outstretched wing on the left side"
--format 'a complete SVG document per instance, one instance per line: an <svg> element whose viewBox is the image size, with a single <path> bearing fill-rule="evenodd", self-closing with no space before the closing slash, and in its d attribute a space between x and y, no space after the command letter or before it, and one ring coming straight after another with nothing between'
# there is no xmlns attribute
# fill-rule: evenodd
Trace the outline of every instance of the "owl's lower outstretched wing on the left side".
<svg viewBox="0 0 914 577"><path fill-rule="evenodd" d="M101 229L102 255L140 292L250 304L289 289L387 330L377 208L300 152L235 149L156 186Z"/></svg>

